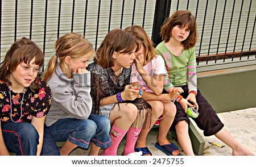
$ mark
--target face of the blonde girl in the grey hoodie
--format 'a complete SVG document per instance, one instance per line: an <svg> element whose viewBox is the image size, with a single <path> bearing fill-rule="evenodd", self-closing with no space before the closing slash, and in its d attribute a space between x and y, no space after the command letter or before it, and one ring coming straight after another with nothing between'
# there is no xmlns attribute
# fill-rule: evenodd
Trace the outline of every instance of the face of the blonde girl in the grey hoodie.
<svg viewBox="0 0 256 167"><path fill-rule="evenodd" d="M74 69L84 69L88 66L88 61L90 60L90 57L92 56L92 51L88 52L84 56L79 57L78 59L72 59L69 64L69 68L71 69L71 73Z"/></svg>

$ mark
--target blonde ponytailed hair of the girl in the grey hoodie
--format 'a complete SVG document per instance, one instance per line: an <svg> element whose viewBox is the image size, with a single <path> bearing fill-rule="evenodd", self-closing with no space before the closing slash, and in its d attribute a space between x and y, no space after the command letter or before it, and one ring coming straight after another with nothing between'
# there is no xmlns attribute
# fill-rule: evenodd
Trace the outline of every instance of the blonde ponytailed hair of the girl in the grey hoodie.
<svg viewBox="0 0 256 167"><path fill-rule="evenodd" d="M47 69L42 75L43 80L47 82L51 79L53 72L56 70L58 59L60 60L59 64L63 68L67 68L65 57L70 56L72 59L78 59L91 51L95 52L92 44L81 34L71 32L61 36L55 42L56 54L49 60Z"/></svg>

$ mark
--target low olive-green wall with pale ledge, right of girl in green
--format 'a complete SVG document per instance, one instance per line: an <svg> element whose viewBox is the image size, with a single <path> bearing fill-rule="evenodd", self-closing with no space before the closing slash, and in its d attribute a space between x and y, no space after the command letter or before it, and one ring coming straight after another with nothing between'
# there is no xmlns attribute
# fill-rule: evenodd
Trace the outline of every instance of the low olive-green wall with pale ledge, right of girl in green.
<svg viewBox="0 0 256 167"><path fill-rule="evenodd" d="M256 107L256 65L198 73L197 85L216 112Z"/></svg>

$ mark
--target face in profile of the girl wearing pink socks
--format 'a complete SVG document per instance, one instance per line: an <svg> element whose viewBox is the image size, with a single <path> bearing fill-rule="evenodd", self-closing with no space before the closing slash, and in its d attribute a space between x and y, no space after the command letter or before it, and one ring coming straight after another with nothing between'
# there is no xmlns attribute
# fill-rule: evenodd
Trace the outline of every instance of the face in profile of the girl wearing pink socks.
<svg viewBox="0 0 256 167"><path fill-rule="evenodd" d="M118 68L130 68L131 65L133 65L133 61L136 58L135 57L135 50L134 49L130 53L117 53L115 52L113 54L113 59L115 59L114 66L117 66Z"/></svg>

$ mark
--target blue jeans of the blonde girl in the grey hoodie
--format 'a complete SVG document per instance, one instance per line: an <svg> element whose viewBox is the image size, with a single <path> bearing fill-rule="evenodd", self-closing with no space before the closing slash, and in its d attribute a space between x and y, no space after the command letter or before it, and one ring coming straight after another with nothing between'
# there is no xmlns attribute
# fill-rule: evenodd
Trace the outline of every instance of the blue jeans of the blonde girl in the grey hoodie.
<svg viewBox="0 0 256 167"><path fill-rule="evenodd" d="M49 126L55 141L67 139L82 148L88 148L90 141L97 147L108 148L110 120L106 116L91 114L88 119L64 118Z"/></svg>

